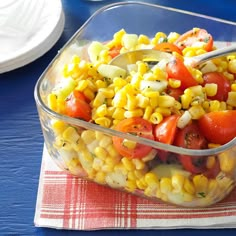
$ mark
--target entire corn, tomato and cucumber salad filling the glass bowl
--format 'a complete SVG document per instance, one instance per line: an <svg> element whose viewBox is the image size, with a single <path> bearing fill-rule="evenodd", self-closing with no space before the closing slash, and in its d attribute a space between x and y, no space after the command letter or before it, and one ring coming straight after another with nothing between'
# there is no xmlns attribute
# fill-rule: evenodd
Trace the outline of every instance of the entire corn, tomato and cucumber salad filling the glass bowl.
<svg viewBox="0 0 236 236"><path fill-rule="evenodd" d="M173 59L138 61L128 72L109 64L142 48ZM197 27L152 36L120 29L79 47L43 93L52 111L39 111L49 153L73 175L150 199L220 201L235 184L236 55L184 64L214 49L211 33Z"/></svg>

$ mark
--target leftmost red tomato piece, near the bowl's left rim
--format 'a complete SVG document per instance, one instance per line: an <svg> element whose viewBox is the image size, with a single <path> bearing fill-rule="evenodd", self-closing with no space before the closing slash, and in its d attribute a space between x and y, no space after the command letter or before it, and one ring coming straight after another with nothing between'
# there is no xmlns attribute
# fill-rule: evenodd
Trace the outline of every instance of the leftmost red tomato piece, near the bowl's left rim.
<svg viewBox="0 0 236 236"><path fill-rule="evenodd" d="M65 103L65 112L68 116L91 120L91 107L83 93L74 90L67 98Z"/></svg>

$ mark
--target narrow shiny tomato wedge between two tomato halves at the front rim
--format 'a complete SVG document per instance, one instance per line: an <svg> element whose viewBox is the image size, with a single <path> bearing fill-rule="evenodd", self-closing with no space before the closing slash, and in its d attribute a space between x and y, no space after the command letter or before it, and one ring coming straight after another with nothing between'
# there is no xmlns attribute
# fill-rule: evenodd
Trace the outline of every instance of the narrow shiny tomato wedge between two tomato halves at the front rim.
<svg viewBox="0 0 236 236"><path fill-rule="evenodd" d="M179 116L172 115L163 119L160 124L154 128L155 140L161 143L172 144L177 130Z"/></svg>

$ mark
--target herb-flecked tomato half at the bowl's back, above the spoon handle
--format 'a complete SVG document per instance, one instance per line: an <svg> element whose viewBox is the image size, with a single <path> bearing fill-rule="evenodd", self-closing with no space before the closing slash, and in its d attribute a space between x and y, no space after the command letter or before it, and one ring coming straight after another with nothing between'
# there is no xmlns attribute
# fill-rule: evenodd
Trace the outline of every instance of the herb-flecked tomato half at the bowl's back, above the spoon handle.
<svg viewBox="0 0 236 236"><path fill-rule="evenodd" d="M206 51L211 51L213 47L213 38L205 29L192 29L184 34L175 41L175 44L183 50L185 47L191 47L197 44L203 44L203 48Z"/></svg>

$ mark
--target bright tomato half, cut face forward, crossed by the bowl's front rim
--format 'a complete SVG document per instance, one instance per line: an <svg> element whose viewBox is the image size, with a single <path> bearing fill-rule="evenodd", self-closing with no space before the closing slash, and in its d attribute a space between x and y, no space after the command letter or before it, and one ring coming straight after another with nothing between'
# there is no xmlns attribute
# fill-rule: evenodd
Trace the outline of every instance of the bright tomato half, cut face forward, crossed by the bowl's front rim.
<svg viewBox="0 0 236 236"><path fill-rule="evenodd" d="M115 129L124 133L154 140L152 124L143 118L133 117L122 120L117 124ZM126 140L117 136L112 137L112 140L116 150L125 157L142 158L152 150L152 147L140 143L134 143L134 147L129 147L126 144Z"/></svg>

